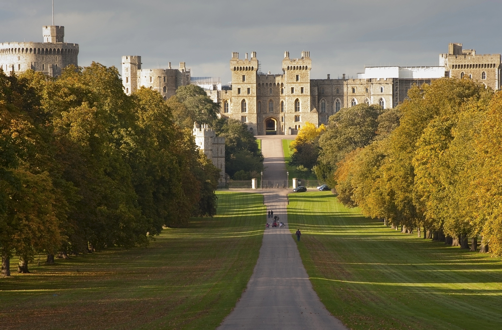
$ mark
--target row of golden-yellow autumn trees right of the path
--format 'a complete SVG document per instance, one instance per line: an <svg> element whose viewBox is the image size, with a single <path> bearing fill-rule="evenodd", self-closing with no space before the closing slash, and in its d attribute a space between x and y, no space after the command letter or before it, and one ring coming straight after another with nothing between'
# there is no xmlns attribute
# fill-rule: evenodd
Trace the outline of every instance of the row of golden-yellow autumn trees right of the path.
<svg viewBox="0 0 502 330"><path fill-rule="evenodd" d="M480 236L502 256L502 93L444 78L408 98L332 116L316 173L366 216L471 251Z"/></svg>

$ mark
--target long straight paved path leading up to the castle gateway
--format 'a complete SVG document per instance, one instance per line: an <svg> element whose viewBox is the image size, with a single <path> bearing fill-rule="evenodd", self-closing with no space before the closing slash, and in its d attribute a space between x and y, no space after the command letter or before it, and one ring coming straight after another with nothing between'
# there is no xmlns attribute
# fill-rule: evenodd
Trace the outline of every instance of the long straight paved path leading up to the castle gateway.
<svg viewBox="0 0 502 330"><path fill-rule="evenodd" d="M268 180L275 179L273 175L282 175L280 173L285 176L281 136L274 138L262 140L262 152L267 166L264 178L267 177ZM282 162L278 161L280 158ZM273 210L274 215L278 215L280 221L286 224L286 228L265 230L260 257L247 288L218 329L346 329L326 310L312 289L295 240L289 231L289 190L260 189L257 192L264 194L267 209ZM266 221L270 222L271 219L267 219L267 214L264 214L264 225Z"/></svg>

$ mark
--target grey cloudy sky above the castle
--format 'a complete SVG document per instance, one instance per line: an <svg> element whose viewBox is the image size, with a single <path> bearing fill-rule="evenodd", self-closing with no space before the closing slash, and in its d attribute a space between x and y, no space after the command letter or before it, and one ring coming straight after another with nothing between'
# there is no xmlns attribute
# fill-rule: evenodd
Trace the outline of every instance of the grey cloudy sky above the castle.
<svg viewBox="0 0 502 330"><path fill-rule="evenodd" d="M0 42L42 41L51 0L0 0ZM355 76L365 65L437 65L448 43L502 53L499 0L54 0L55 24L78 43L79 65L177 67L230 80L231 52L256 51L282 73L284 51L310 51L312 78Z"/></svg>

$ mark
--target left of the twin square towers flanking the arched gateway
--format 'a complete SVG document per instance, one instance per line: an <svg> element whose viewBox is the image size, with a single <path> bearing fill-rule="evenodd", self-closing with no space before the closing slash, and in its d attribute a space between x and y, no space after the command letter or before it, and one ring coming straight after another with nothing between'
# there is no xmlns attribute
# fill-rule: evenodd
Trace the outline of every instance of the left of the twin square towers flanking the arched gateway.
<svg viewBox="0 0 502 330"><path fill-rule="evenodd" d="M258 59L256 52L247 53L239 59L239 53L233 52L230 60L232 72L232 94L230 98L230 117L246 123L249 129L257 132L257 74Z"/></svg>

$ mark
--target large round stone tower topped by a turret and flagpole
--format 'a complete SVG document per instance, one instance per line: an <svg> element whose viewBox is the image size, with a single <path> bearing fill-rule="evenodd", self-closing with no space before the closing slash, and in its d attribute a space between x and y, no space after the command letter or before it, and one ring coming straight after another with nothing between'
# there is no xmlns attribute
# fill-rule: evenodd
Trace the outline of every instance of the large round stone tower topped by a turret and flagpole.
<svg viewBox="0 0 502 330"><path fill-rule="evenodd" d="M0 44L0 67L4 72L23 73L29 69L58 77L68 65L78 67L78 44L64 42L63 26L42 27L44 42Z"/></svg>

